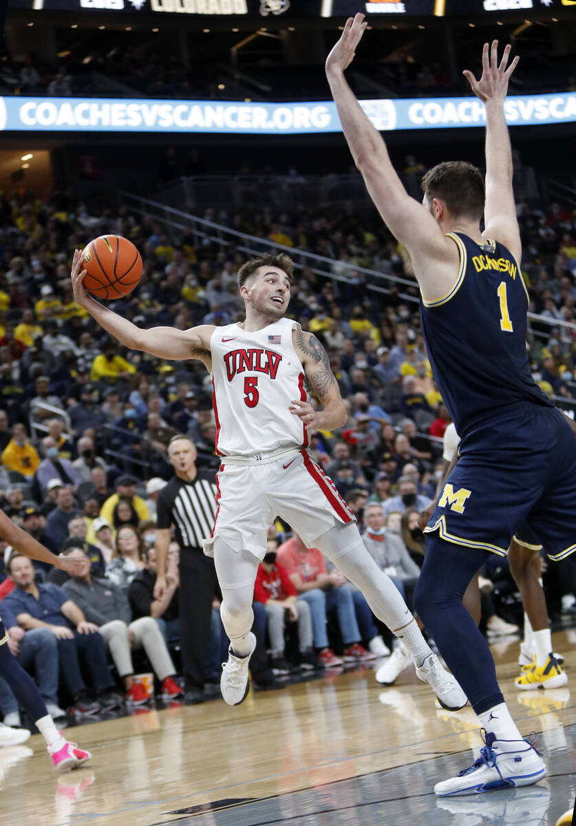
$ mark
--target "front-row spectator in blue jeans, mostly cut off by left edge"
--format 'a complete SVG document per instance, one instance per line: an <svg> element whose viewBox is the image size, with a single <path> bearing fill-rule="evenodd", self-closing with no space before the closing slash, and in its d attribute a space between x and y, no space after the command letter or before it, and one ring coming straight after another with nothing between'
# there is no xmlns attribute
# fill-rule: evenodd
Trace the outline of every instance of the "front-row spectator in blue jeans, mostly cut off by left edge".
<svg viewBox="0 0 576 826"><path fill-rule="evenodd" d="M0 615L2 615L2 622L8 636L8 648L22 668L35 674L36 683L45 701L48 714L54 719L64 717L66 712L58 705L59 662L54 634L47 628L23 631L12 611L2 603L0 603ZM0 712L4 718L4 725L15 729L21 727L18 700L2 678L0 678Z"/></svg>

